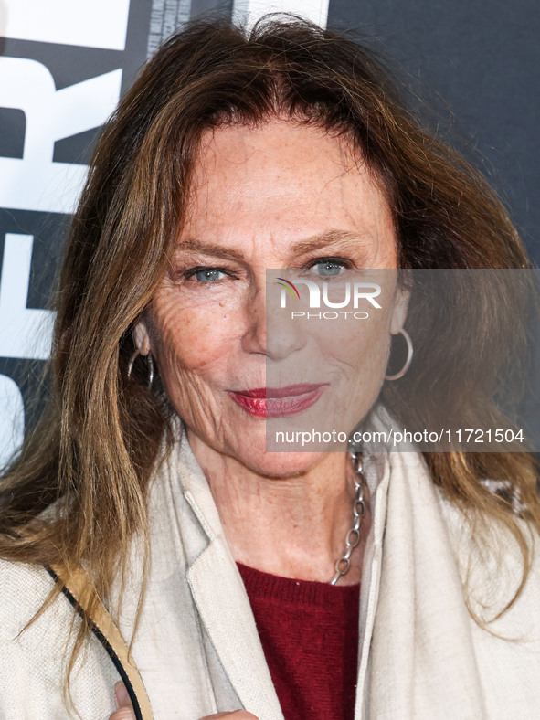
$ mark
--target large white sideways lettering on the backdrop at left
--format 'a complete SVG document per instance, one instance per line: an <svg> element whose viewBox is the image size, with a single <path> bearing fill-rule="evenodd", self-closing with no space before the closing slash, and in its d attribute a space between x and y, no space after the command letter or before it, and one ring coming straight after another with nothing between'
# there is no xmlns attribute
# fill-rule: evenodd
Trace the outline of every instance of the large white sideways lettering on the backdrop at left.
<svg viewBox="0 0 540 720"><path fill-rule="evenodd" d="M0 36L121 50L129 6L130 0L4 0ZM88 168L53 162L54 145L105 122L120 100L121 83L122 69L114 69L57 90L41 62L0 57L0 107L22 110L26 121L22 158L0 157L0 207L73 212ZM33 240L26 234L5 235L1 357L45 360L50 353L53 313L26 307ZM13 379L0 375L0 466L23 435L21 392Z"/></svg>

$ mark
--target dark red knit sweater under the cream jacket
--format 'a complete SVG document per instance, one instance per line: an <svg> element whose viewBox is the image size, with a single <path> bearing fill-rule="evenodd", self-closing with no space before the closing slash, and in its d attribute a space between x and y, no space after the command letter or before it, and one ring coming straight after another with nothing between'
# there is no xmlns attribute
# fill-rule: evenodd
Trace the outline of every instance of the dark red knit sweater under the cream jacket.
<svg viewBox="0 0 540 720"><path fill-rule="evenodd" d="M285 720L352 720L360 586L238 569Z"/></svg>

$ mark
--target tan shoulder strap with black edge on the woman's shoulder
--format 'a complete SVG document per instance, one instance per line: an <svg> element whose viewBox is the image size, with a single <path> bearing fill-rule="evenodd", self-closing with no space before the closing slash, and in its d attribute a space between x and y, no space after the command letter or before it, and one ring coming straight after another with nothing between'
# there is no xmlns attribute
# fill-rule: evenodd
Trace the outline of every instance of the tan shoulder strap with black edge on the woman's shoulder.
<svg viewBox="0 0 540 720"><path fill-rule="evenodd" d="M60 578L66 577L66 573L58 566L48 566L47 570L55 582L62 582ZM70 575L69 582L62 585L62 592L80 614L84 613L90 619L92 632L108 652L111 661L122 677L122 682L125 684L132 701L136 720L153 720L152 708L141 675L133 662L126 641L122 638L121 631L111 618L109 610L101 600L97 609L91 614L81 605L80 598L88 595L88 592L85 593L85 588L88 589L88 587L88 576L82 568L79 568Z"/></svg>

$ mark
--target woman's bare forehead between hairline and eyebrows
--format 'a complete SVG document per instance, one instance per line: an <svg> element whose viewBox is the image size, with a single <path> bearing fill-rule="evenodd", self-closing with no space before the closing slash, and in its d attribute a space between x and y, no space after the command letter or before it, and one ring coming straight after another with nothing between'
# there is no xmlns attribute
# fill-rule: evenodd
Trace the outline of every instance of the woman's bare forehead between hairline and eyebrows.
<svg viewBox="0 0 540 720"><path fill-rule="evenodd" d="M287 243L343 229L394 244L376 175L344 138L298 122L204 133L186 221L183 237L213 242Z"/></svg>

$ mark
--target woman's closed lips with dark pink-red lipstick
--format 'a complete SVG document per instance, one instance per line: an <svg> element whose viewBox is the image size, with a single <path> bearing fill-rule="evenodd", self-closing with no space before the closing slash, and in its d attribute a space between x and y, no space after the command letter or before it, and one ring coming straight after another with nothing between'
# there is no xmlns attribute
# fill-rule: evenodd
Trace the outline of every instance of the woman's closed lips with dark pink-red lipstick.
<svg viewBox="0 0 540 720"><path fill-rule="evenodd" d="M229 395L256 418L281 418L310 408L323 395L328 383L300 383L285 387L254 387L230 391Z"/></svg>

